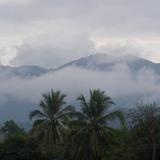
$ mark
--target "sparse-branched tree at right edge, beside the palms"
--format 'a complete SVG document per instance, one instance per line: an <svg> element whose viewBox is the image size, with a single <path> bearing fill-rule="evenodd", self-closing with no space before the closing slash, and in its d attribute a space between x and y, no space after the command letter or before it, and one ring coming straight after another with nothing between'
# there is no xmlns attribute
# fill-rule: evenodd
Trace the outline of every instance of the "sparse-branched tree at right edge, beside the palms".
<svg viewBox="0 0 160 160"><path fill-rule="evenodd" d="M130 136L137 155L141 159L156 160L160 144L160 108L156 103L137 103L128 116L131 119Z"/></svg>

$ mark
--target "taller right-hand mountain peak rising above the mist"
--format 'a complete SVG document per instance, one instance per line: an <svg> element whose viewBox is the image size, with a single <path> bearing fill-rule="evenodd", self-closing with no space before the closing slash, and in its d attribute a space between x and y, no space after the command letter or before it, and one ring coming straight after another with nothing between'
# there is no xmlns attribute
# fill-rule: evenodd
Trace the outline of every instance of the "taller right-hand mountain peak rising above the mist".
<svg viewBox="0 0 160 160"><path fill-rule="evenodd" d="M110 71L115 65L123 64L128 66L132 73L147 69L160 75L160 63L153 63L149 60L133 55L111 56L102 53L80 58L61 66L58 69L74 66L87 70Z"/></svg>

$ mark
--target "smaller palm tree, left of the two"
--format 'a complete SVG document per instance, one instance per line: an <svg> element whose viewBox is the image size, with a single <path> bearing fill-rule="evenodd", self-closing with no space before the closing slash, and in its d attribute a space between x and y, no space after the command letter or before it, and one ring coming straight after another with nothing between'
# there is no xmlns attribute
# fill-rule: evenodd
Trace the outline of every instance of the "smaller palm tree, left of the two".
<svg viewBox="0 0 160 160"><path fill-rule="evenodd" d="M43 100L39 106L41 110L30 112L29 118L36 118L30 134L35 136L40 144L48 148L50 146L59 146L60 138L66 134L66 123L69 115L73 111L72 106L63 107L66 102L65 94L60 91L53 91L48 94L42 94Z"/></svg>

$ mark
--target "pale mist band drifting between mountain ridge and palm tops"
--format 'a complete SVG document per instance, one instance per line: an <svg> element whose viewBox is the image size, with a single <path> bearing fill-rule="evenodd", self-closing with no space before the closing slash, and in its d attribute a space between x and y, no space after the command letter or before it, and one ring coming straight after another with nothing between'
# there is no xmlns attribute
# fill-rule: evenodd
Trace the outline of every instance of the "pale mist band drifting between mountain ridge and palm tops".
<svg viewBox="0 0 160 160"><path fill-rule="evenodd" d="M125 63L117 63L108 72L68 67L30 80L13 77L8 81L1 81L0 87L0 97L12 95L20 101L31 102L36 102L41 93L49 92L52 88L72 96L86 93L89 89L100 88L113 98L150 94L158 99L160 76L145 68L137 74L132 74ZM152 97L148 100L152 100Z"/></svg>

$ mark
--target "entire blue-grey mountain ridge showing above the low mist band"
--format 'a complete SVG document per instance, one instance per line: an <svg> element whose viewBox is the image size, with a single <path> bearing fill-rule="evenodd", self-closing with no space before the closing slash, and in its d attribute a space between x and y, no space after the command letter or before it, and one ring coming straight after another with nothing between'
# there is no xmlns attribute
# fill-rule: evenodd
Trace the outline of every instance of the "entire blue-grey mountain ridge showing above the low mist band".
<svg viewBox="0 0 160 160"><path fill-rule="evenodd" d="M77 67L93 71L111 71L115 65L126 65L132 73L137 73L142 69L152 70L160 75L160 63L153 63L149 60L133 55L111 56L97 53L88 57L83 57L72 62L68 62L56 69L44 69L38 66L0 66L0 79L20 77L32 78L58 71L67 67Z"/></svg>

